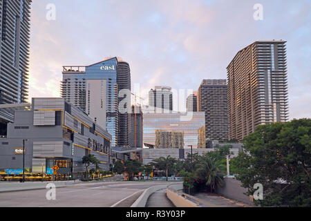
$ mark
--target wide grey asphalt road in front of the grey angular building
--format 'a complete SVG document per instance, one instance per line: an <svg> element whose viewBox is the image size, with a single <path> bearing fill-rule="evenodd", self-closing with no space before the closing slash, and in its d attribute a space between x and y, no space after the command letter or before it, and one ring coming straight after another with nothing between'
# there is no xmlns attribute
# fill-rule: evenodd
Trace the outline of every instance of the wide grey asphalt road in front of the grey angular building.
<svg viewBox="0 0 311 221"><path fill-rule="evenodd" d="M48 189L0 193L0 207L129 207L144 189L165 182L95 182L55 189L56 200L47 200Z"/></svg>

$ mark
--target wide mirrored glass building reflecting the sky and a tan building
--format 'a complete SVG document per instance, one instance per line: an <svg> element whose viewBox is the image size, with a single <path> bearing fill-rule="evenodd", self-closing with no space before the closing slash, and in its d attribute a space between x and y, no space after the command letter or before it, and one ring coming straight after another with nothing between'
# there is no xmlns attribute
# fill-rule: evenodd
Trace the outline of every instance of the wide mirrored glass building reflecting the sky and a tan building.
<svg viewBox="0 0 311 221"><path fill-rule="evenodd" d="M168 135L173 138L176 137L176 143L178 143L178 134L182 133L182 142L179 142L178 145L175 145L176 148L189 148L189 145L192 145L193 148L205 148L202 146L201 140L205 141L205 133L201 133L202 128L205 127L205 113L204 112L194 112L190 119L183 120L182 117L185 117L188 113L180 113L170 111L170 113L148 113L148 107L144 106L143 113L143 142L144 146L149 148L159 148L164 140L158 140L157 143L157 134L158 139L162 136ZM157 132L158 131L158 132ZM161 132L162 131L162 132ZM172 134L175 133L175 136ZM167 140L170 144L167 144L165 148L171 147L171 138Z"/></svg>

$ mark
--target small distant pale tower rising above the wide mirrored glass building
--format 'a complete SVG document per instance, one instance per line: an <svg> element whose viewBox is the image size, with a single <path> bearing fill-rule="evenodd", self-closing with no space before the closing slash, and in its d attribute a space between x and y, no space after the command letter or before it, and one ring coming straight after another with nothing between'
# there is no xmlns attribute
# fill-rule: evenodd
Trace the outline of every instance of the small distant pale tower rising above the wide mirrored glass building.
<svg viewBox="0 0 311 221"><path fill-rule="evenodd" d="M154 89L151 89L149 91L149 106L172 111L173 93L171 93L171 87L156 86Z"/></svg>

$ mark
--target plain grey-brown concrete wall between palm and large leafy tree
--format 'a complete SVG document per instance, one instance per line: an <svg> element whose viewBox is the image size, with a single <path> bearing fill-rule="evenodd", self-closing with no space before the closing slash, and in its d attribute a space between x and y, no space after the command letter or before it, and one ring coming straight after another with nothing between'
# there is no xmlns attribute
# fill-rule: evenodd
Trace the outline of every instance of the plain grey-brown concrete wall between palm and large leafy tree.
<svg viewBox="0 0 311 221"><path fill-rule="evenodd" d="M254 205L249 199L249 196L244 193L247 192L247 189L241 186L241 182L235 180L234 178L225 178L225 185L223 188L217 188L216 193L225 196L226 198L230 198L232 200L237 200L239 202L244 202L248 205Z"/></svg>

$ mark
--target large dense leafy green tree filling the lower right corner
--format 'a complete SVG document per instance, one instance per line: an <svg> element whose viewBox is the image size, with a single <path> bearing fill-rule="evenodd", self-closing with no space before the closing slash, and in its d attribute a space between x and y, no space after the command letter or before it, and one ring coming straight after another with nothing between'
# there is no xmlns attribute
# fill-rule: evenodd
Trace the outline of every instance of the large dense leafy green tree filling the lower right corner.
<svg viewBox="0 0 311 221"><path fill-rule="evenodd" d="M253 195L263 184L261 206L311 206L311 119L258 126L243 140L245 152L231 164Z"/></svg>

